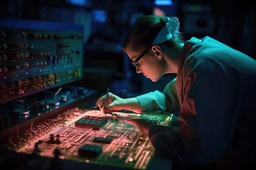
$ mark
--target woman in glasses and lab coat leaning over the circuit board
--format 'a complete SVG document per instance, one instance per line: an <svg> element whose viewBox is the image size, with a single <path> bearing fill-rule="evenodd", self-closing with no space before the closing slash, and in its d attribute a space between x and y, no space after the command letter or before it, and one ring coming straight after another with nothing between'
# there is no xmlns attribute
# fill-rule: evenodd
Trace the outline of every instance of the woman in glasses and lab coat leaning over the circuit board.
<svg viewBox="0 0 256 170"><path fill-rule="evenodd" d="M211 37L184 41L176 17L144 15L133 24L123 51L137 73L156 82L177 77L163 92L132 98L109 93L96 105L104 112L179 111L181 127L126 119L155 147L186 166L214 165L217 170L245 170L256 160L256 60Z"/></svg>

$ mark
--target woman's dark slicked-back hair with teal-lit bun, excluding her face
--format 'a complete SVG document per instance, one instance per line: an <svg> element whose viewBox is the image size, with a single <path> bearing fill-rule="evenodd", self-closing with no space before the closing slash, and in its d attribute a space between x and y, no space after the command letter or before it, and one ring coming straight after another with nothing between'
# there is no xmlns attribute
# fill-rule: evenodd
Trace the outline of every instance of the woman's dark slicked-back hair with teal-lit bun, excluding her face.
<svg viewBox="0 0 256 170"><path fill-rule="evenodd" d="M161 30L166 30L170 35L169 39L158 35ZM163 31L162 31L163 32ZM180 32L180 23L177 17L160 17L157 15L144 15L138 18L132 28L129 30L123 44L123 51L126 52L128 46L134 51L144 51L154 45L165 44L173 48L184 42L182 32ZM162 42L161 42L162 40Z"/></svg>

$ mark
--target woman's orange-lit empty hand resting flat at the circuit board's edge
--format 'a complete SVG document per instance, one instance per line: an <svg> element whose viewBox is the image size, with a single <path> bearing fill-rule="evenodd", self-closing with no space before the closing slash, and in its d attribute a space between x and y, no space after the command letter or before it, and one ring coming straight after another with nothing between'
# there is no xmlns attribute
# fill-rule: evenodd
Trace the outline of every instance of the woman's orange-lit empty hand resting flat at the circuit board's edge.
<svg viewBox="0 0 256 170"><path fill-rule="evenodd" d="M125 120L126 123L134 125L143 135L147 136L149 135L149 128L153 123L146 119L140 119L140 118L128 118Z"/></svg>

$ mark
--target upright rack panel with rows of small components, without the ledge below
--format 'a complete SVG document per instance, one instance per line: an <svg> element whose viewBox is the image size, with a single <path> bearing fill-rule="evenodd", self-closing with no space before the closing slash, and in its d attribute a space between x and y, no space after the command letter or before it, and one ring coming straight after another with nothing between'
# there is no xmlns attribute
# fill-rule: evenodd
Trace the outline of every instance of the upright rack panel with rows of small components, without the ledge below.
<svg viewBox="0 0 256 170"><path fill-rule="evenodd" d="M0 103L82 78L83 26L0 18Z"/></svg>

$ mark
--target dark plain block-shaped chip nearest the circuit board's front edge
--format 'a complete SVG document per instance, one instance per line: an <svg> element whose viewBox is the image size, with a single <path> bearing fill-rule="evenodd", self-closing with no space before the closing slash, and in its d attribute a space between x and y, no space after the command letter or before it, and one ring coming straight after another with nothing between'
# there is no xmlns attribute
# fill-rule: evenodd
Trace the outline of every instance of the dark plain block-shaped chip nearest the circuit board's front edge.
<svg viewBox="0 0 256 170"><path fill-rule="evenodd" d="M84 157L98 157L102 152L102 146L85 144L78 150L78 154Z"/></svg>

